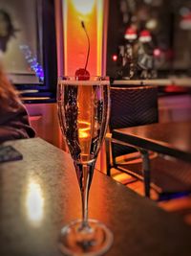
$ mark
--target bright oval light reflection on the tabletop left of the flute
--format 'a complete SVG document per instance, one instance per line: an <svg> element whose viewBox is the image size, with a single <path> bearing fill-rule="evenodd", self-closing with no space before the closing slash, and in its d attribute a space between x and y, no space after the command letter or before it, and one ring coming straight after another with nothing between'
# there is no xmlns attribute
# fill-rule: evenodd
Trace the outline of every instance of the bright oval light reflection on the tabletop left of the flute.
<svg viewBox="0 0 191 256"><path fill-rule="evenodd" d="M33 180L28 184L26 208L29 221L38 225L43 220L44 197L40 185Z"/></svg>

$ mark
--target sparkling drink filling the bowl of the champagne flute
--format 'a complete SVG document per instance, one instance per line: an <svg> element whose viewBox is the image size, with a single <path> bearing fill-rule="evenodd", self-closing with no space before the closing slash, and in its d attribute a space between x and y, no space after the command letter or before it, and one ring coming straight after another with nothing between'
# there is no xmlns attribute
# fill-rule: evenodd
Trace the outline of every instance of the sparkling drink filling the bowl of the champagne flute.
<svg viewBox="0 0 191 256"><path fill-rule="evenodd" d="M64 86L59 119L69 151L77 162L96 159L106 129L109 109L104 97L107 93L107 85Z"/></svg>

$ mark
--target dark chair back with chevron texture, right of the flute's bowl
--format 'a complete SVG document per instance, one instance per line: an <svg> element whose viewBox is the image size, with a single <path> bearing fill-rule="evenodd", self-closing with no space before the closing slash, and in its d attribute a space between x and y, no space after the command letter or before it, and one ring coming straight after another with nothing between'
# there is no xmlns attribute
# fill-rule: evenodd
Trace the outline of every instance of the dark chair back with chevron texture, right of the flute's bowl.
<svg viewBox="0 0 191 256"><path fill-rule="evenodd" d="M137 127L157 123L158 120L158 87L111 87L111 133L115 128ZM131 147L112 143L114 164L117 156L134 151Z"/></svg>

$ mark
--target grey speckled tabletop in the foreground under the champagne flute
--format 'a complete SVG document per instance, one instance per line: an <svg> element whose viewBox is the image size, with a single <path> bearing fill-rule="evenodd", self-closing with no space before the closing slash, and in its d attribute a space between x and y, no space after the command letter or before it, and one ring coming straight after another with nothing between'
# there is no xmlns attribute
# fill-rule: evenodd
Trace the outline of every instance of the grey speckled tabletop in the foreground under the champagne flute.
<svg viewBox="0 0 191 256"><path fill-rule="evenodd" d="M70 155L42 139L7 142L23 160L1 163L0 255L61 256L61 227L80 218L81 203ZM190 256L191 227L148 198L98 171L90 218L114 233L108 256Z"/></svg>

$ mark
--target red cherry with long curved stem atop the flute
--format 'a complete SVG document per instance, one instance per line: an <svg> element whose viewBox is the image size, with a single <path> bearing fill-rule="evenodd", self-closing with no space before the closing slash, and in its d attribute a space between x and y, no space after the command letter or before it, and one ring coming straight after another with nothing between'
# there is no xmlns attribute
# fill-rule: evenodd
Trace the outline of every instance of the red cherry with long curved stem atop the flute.
<svg viewBox="0 0 191 256"><path fill-rule="evenodd" d="M88 60L89 60L89 56L90 56L90 38L88 36L88 33L86 31L86 27L83 21L81 21L81 26L83 28L83 30L85 31L85 34L87 36L88 39L88 53L87 53L87 58L86 58L86 64L84 68L79 68L75 71L75 79L78 81L82 81L82 80L90 80L90 72L87 70L87 65L88 65Z"/></svg>

